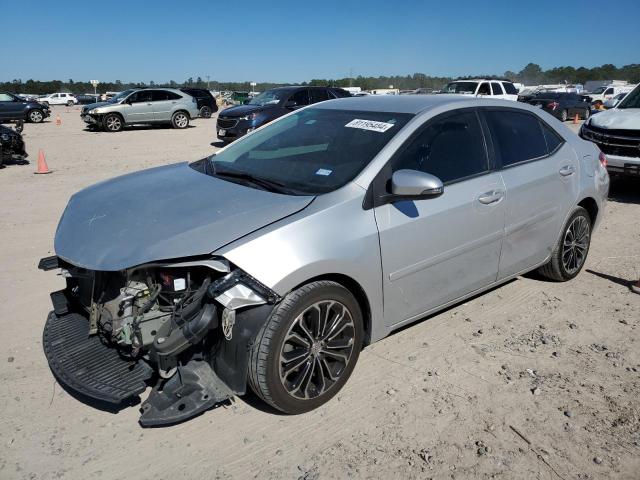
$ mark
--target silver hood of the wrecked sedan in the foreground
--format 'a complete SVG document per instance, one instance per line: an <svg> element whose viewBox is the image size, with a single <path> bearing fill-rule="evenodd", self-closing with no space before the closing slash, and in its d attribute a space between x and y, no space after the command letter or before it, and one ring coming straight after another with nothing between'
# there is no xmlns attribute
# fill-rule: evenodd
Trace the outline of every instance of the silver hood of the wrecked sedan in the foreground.
<svg viewBox="0 0 640 480"><path fill-rule="evenodd" d="M305 208L313 196L257 190L187 163L108 180L71 197L56 254L90 270L209 254Z"/></svg>

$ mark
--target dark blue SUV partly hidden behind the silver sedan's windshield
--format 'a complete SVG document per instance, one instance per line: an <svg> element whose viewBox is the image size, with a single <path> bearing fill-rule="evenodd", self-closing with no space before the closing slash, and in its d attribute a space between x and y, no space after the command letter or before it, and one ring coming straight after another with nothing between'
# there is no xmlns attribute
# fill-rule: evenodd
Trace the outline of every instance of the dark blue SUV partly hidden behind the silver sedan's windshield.
<svg viewBox="0 0 640 480"><path fill-rule="evenodd" d="M232 142L293 110L312 103L350 96L349 92L341 88L273 88L253 97L244 105L237 105L222 111L218 115L218 138L223 142Z"/></svg>

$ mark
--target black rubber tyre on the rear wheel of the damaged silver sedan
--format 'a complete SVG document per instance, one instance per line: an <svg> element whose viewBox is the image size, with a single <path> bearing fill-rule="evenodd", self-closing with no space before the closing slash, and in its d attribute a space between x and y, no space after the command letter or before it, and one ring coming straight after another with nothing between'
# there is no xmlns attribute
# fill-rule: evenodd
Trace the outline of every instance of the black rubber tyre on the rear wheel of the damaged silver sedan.
<svg viewBox="0 0 640 480"><path fill-rule="evenodd" d="M569 256L569 258L571 258L570 254L568 255L569 252L567 250L570 249L570 247L567 246L567 243L572 242L570 237L577 237L577 235L569 232L572 226L574 228L577 226L576 222L581 224L584 222L584 225L586 226L586 238L584 241L575 242L583 244L583 247L574 247L574 252L579 251L582 256L579 258L579 261L576 261L576 265L573 265L571 262L567 262L567 257ZM584 208L577 207L565 223L564 227L562 227L562 235L558 240L558 244L551 253L549 262L540 267L538 272L548 279L556 282L566 282L578 275L580 270L582 270L582 267L584 267L584 264L587 261L587 255L589 254L589 246L591 244L591 227L591 217L589 216L589 213Z"/></svg>

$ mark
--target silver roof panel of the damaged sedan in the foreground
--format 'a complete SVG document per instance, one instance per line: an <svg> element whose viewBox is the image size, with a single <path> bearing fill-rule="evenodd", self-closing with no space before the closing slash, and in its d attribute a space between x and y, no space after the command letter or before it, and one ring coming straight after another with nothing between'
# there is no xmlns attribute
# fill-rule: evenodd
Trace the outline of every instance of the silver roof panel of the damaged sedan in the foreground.
<svg viewBox="0 0 640 480"><path fill-rule="evenodd" d="M469 98L467 95L365 95L347 97L314 104L314 108L361 110L371 112L394 112L417 114L449 104L465 103L465 106L488 106L488 100ZM495 105L495 101L491 102ZM518 102L502 100L500 105L520 107Z"/></svg>

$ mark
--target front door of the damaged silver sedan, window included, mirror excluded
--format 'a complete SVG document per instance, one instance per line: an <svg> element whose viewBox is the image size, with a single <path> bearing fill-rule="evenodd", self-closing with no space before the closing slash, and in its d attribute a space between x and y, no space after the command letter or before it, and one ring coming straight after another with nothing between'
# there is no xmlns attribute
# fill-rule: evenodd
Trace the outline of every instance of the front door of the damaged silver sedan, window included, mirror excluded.
<svg viewBox="0 0 640 480"><path fill-rule="evenodd" d="M375 208L388 326L495 282L504 234L504 184L475 109L429 121L381 173L400 169L433 174L445 187L438 198Z"/></svg>

